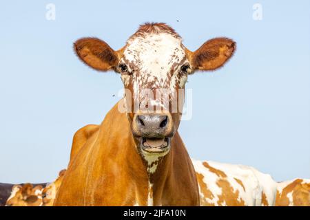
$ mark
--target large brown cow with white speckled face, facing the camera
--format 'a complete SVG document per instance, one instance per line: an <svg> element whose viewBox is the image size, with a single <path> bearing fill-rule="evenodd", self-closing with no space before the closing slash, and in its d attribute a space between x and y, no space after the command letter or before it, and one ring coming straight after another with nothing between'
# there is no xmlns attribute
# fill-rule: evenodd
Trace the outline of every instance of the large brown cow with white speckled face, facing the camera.
<svg viewBox="0 0 310 220"><path fill-rule="evenodd" d="M192 52L169 25L145 23L120 50L96 38L79 39L74 50L92 69L120 74L124 97L99 127L74 135L54 205L199 206L194 166L178 133L185 83L196 71L222 67L236 43L211 39Z"/></svg>

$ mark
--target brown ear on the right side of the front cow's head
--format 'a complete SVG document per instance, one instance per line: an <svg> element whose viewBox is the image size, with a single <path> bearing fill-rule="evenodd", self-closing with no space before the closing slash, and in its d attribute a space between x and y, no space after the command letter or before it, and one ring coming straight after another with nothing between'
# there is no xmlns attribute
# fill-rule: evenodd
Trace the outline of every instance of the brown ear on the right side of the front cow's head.
<svg viewBox="0 0 310 220"><path fill-rule="evenodd" d="M189 53L194 70L214 70L222 67L236 50L236 43L227 38L205 42L198 50Z"/></svg>

